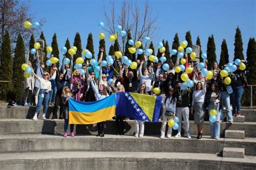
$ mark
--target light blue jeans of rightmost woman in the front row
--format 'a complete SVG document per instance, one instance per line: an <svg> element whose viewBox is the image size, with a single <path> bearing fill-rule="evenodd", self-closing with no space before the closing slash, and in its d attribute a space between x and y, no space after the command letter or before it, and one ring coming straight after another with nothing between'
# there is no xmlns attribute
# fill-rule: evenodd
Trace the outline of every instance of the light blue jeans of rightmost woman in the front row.
<svg viewBox="0 0 256 170"><path fill-rule="evenodd" d="M208 113L210 114L210 111L214 109L213 103L210 103L208 105ZM219 112L219 103L217 104L216 108L217 110L217 120L214 123L210 122L210 129L211 129L211 138L219 138L220 137L220 112ZM210 115L209 115L210 116Z"/></svg>

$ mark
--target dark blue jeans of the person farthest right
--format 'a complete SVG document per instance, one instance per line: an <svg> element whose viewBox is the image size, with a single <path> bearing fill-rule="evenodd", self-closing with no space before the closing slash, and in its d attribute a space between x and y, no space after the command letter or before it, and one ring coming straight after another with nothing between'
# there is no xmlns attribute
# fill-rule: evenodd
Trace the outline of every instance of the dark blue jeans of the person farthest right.
<svg viewBox="0 0 256 170"><path fill-rule="evenodd" d="M244 88L242 86L232 87L233 88L233 114L237 112L241 112L241 98L242 93L244 93ZM237 110L236 110L237 109Z"/></svg>

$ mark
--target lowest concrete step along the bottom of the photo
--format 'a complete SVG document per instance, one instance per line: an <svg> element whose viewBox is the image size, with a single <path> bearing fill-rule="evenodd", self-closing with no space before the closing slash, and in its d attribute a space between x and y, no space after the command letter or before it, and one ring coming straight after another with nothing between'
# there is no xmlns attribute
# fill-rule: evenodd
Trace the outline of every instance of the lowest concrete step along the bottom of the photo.
<svg viewBox="0 0 256 170"><path fill-rule="evenodd" d="M0 154L3 169L255 169L256 157L168 152L36 152Z"/></svg>

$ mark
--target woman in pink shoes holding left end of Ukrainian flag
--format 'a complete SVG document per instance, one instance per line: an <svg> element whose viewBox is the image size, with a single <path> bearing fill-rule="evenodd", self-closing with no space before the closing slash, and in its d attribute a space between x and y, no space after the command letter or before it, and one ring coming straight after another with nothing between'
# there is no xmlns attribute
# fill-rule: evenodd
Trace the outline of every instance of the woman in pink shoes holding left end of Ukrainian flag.
<svg viewBox="0 0 256 170"><path fill-rule="evenodd" d="M64 136L68 136L68 125L69 125L69 98L72 98L70 89L68 86L63 87L62 90L62 105L63 105L63 118L64 118ZM70 136L75 137L74 125L70 124Z"/></svg>

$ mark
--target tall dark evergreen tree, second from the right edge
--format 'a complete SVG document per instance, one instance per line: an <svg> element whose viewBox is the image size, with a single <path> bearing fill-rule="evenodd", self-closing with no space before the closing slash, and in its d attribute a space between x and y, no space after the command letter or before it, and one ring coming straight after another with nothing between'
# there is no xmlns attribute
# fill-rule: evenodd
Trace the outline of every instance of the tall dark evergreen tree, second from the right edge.
<svg viewBox="0 0 256 170"><path fill-rule="evenodd" d="M234 46L235 46L235 48L234 48L234 60L235 59L244 60L244 53L242 53L244 51L244 49L242 48L242 34L241 34L241 31L240 31L239 27L237 27L237 29L235 30Z"/></svg>

